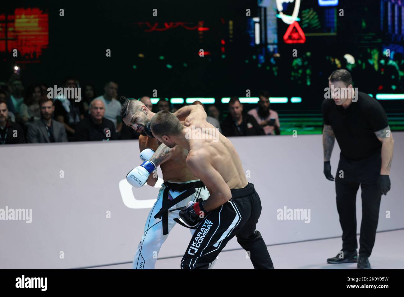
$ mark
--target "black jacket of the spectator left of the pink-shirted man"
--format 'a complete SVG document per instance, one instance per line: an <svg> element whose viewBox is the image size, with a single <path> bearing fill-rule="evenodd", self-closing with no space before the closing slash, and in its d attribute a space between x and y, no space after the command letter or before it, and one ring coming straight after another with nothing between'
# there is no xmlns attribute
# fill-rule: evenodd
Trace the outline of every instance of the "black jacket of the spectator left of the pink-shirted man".
<svg viewBox="0 0 404 297"><path fill-rule="evenodd" d="M223 120L220 127L224 136L265 135L263 128L257 123L257 120L249 114L243 114L243 121L240 125L229 114Z"/></svg>

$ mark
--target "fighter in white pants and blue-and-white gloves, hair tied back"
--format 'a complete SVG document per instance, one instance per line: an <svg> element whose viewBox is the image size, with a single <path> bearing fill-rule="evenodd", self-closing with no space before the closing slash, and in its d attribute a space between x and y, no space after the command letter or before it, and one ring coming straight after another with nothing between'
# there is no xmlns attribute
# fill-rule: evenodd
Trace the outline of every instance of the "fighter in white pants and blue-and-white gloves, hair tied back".
<svg viewBox="0 0 404 297"><path fill-rule="evenodd" d="M141 166L130 171L126 179L134 187L141 187L146 181L153 187L158 177L156 173L150 173L159 165L163 173L164 183L147 217L145 230L133 260L133 269L154 269L161 245L175 225L173 219L178 218L179 210L168 210L186 206L189 201L206 200L209 192L185 164L187 150L182 147L169 148L164 144L159 146L157 139L145 136L145 125L154 113L141 101L125 97L121 97L121 100L124 100L121 117L125 124L142 134L139 137L139 149L144 161ZM191 230L191 234L193 233L194 230ZM210 268L212 266L210 265Z"/></svg>

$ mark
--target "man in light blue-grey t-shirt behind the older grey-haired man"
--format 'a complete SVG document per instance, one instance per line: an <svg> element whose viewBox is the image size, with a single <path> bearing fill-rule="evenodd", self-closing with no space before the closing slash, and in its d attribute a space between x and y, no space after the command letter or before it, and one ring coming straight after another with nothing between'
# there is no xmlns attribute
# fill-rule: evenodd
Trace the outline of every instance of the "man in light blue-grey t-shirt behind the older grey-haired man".
<svg viewBox="0 0 404 297"><path fill-rule="evenodd" d="M122 129L121 109L122 104L116 100L118 96L118 84L109 81L105 84L104 95L96 97L95 99L101 100L105 106L105 118L114 123L116 131L119 133Z"/></svg>

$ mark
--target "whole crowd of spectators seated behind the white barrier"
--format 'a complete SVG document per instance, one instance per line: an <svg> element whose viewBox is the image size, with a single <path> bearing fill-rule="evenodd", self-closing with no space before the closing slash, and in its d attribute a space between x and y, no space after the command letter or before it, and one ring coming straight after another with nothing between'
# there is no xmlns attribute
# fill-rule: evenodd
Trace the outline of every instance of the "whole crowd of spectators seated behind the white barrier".
<svg viewBox="0 0 404 297"><path fill-rule="evenodd" d="M65 78L65 88L79 88L78 80ZM32 84L25 91L19 78L0 82L0 144L139 138L140 134L123 124L120 118L122 104L117 99L118 83L106 82L100 96L93 84L86 84L80 90L83 93L78 99L59 93L59 89L53 98L48 96L48 86L44 83ZM176 110L166 99L160 99L156 104L152 104L148 96L139 100L155 112ZM225 136L280 134L278 113L270 109L267 91L259 92L258 106L248 112L244 112L238 97L231 97L228 115L223 119L217 106L205 107L200 101L193 104L202 105L208 115L207 121Z"/></svg>

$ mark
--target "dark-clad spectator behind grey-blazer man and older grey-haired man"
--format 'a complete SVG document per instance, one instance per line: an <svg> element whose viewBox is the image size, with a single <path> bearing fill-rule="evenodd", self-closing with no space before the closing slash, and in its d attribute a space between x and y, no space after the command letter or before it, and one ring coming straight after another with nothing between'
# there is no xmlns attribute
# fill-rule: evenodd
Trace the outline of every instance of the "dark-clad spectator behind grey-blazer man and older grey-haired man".
<svg viewBox="0 0 404 297"><path fill-rule="evenodd" d="M76 88L76 80L72 77L65 78L64 88ZM74 140L74 129L80 119L84 118L84 107L82 102L76 102L74 98L65 98L64 96L53 99L55 105L55 119L65 126L67 139Z"/></svg>

